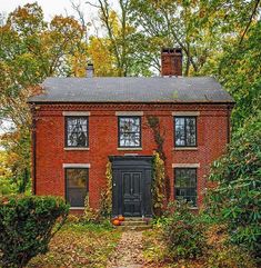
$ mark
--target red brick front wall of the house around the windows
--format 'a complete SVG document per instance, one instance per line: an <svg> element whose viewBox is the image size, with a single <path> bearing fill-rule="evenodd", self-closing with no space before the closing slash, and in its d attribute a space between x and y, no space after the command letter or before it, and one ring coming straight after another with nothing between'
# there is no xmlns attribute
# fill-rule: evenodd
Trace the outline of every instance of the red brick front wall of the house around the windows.
<svg viewBox="0 0 261 268"><path fill-rule="evenodd" d="M89 150L64 150L63 111L89 111ZM143 111L142 150L118 150L118 117L116 111ZM177 150L173 137L173 111L199 111L198 147ZM165 133L164 153L167 175L173 193L173 163L199 163L198 205L202 204L205 176L210 163L225 149L229 109L227 105L39 105L36 107L36 193L64 197L63 163L90 163L90 206L98 207L101 189L106 186L108 156L124 153L152 155L157 148L147 116L157 116Z"/></svg>

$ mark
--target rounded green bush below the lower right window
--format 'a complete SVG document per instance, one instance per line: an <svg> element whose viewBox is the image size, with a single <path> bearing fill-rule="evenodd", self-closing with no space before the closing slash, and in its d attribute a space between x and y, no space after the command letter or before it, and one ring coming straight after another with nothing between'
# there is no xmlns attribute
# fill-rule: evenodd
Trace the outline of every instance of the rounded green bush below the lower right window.
<svg viewBox="0 0 261 268"><path fill-rule="evenodd" d="M168 220L163 225L169 256L175 260L200 257L205 248L200 217L191 212L189 204L173 202L170 206Z"/></svg>

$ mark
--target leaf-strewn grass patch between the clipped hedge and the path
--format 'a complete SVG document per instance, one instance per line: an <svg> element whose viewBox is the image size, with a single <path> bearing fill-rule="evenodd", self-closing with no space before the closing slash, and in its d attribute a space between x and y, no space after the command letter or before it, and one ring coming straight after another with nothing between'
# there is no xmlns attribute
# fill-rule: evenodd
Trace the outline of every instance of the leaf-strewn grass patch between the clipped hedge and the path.
<svg viewBox="0 0 261 268"><path fill-rule="evenodd" d="M108 225L66 224L51 240L50 251L37 256L27 267L106 267L120 236Z"/></svg>

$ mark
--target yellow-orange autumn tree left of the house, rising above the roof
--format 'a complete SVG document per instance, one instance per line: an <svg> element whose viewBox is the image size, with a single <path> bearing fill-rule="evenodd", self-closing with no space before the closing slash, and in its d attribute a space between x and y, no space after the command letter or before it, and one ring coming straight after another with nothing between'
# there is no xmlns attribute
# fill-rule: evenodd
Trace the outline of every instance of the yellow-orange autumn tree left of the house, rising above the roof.
<svg viewBox="0 0 261 268"><path fill-rule="evenodd" d="M30 181L31 118L27 100L41 92L37 85L46 77L79 75L82 61L73 58L87 54L84 30L71 17L56 16L46 22L37 3L19 7L7 20L1 19L0 121L12 122L12 129L1 137L1 145L8 153L16 155L9 165L20 192Z"/></svg>

